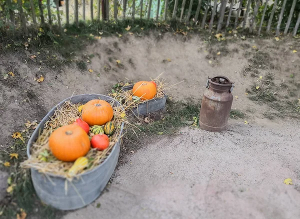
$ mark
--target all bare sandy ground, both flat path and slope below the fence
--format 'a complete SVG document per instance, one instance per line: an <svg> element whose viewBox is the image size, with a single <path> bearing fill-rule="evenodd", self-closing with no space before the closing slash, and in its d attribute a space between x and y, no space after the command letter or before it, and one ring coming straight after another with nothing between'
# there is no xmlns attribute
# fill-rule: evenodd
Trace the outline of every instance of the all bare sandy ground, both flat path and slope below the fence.
<svg viewBox="0 0 300 219"><path fill-rule="evenodd" d="M294 42L249 38L209 45L198 36L186 40L173 34L126 34L102 38L76 54L83 60L93 54L87 63L93 72L75 65L39 70L16 54L1 55L0 71L13 69L18 79L8 85L0 80L0 149L10 146L10 135L23 129L26 120L41 119L72 94L107 93L118 81L146 80L164 72L169 84L182 81L167 91L174 100L200 101L207 76L221 74L235 81L233 95L238 97L232 108L246 114L248 125L230 120L223 133L184 128L172 137L160 136L125 157L128 162L115 171L109 192L65 218L299 218L300 193L295 189L300 183L299 124L289 118L264 118L268 107L245 95L257 78L243 75L248 65L244 53L255 45L271 55L276 83L294 75L288 87L293 98L300 98L295 87L300 83L300 55L291 52L300 51L300 46ZM215 55L218 51L221 54ZM207 55L213 56L212 63ZM168 58L171 61L164 61ZM259 73L264 76L268 71ZM33 80L39 74L45 76L42 83ZM287 177L294 185L283 184Z"/></svg>

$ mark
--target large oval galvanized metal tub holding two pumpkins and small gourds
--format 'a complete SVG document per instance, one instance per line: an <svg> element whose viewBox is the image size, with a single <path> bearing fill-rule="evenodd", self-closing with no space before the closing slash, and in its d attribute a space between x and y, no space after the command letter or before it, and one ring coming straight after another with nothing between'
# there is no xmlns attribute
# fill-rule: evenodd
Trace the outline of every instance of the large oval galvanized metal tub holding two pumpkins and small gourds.
<svg viewBox="0 0 300 219"><path fill-rule="evenodd" d="M63 105L65 101L71 103L85 103L91 99L103 99L110 101L112 98L101 94L80 94L62 100L53 107L41 120L34 130L27 143L27 156L30 157L30 146L38 137L38 133L43 129L45 122L54 114L57 107ZM115 101L115 106L120 103ZM79 174L79 178L74 178L71 182L64 177L51 173L40 173L34 168L30 168L31 179L38 197L46 204L61 210L71 210L83 207L95 200L104 189L111 177L117 163L119 155L119 142L122 134L123 123L119 134L119 140L113 146L107 158L97 167L90 171Z"/></svg>

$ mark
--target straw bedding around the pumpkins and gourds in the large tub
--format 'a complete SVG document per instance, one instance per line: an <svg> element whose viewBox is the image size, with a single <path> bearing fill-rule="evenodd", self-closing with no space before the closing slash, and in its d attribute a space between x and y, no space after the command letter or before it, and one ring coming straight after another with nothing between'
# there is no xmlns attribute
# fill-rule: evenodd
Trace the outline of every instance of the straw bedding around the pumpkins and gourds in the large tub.
<svg viewBox="0 0 300 219"><path fill-rule="evenodd" d="M88 159L88 165L85 169L78 172L84 173L102 163L105 158L109 155L111 149L113 148L115 142L119 138L121 123L124 120L120 116L122 111L121 106L113 106L113 99L110 104L113 108L113 118L115 130L113 134L109 137L110 143L108 148L103 151L90 148L88 153L85 155ZM30 157L21 163L24 168L35 168L39 172L52 173L56 175L63 176L65 178L72 178L68 175L68 170L72 166L73 162L64 162L56 159L50 152L48 139L50 134L58 127L73 123L76 118L80 117L81 113L78 110L78 106L81 103L72 104L70 101L66 101L60 108L57 108L54 115L44 124L43 130L39 133L36 141L32 144L30 148ZM89 136L93 136L93 133L89 133Z"/></svg>

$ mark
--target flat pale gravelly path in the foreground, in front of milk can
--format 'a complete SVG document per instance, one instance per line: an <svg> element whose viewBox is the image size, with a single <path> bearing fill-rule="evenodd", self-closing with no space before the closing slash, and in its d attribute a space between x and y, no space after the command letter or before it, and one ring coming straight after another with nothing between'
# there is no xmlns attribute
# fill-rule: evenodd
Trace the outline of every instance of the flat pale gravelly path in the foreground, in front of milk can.
<svg viewBox="0 0 300 219"><path fill-rule="evenodd" d="M299 124L230 123L224 133L184 128L144 145L108 192L64 219L298 218ZM293 185L283 184L288 177Z"/></svg>

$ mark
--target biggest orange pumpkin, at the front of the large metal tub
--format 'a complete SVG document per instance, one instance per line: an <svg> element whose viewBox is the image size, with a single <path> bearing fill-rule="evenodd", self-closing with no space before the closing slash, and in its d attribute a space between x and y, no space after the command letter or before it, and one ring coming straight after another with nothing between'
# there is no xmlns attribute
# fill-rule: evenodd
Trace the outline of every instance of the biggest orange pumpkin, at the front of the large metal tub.
<svg viewBox="0 0 300 219"><path fill-rule="evenodd" d="M69 124L51 133L49 147L57 159L74 161L88 152L90 141L87 133L80 126Z"/></svg>

